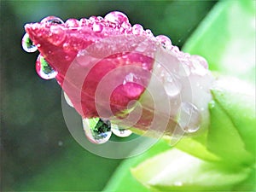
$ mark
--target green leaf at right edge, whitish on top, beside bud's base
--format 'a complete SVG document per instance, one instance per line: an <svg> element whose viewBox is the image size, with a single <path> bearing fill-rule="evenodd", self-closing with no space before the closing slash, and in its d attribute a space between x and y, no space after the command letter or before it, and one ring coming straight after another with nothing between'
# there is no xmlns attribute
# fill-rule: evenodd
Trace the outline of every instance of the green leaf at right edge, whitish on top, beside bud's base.
<svg viewBox="0 0 256 192"><path fill-rule="evenodd" d="M232 84L230 84L232 82ZM256 117L253 87L238 79L218 79L212 88L214 98L208 134L210 148L218 154L249 160L255 156Z"/></svg>

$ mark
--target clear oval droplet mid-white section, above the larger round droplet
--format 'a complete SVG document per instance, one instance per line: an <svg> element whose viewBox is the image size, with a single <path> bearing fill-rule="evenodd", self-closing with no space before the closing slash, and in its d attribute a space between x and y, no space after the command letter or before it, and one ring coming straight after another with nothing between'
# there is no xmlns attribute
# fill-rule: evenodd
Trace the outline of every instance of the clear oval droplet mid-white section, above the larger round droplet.
<svg viewBox="0 0 256 192"><path fill-rule="evenodd" d="M181 90L181 84L172 78L170 75L164 77L164 88L168 96L177 96Z"/></svg>

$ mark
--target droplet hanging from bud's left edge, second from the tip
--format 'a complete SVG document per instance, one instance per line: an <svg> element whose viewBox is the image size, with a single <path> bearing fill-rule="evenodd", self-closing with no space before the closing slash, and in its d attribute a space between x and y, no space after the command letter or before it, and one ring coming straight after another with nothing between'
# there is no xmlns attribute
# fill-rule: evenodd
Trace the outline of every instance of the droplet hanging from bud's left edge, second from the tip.
<svg viewBox="0 0 256 192"><path fill-rule="evenodd" d="M36 71L42 79L54 79L57 75L57 72L49 66L42 55L38 55Z"/></svg>

